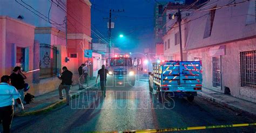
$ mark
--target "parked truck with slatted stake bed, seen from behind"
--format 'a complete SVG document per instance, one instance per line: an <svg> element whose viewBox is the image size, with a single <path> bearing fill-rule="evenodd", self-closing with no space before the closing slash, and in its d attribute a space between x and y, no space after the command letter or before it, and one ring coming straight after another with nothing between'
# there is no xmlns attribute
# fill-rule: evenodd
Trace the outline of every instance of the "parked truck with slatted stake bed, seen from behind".
<svg viewBox="0 0 256 133"><path fill-rule="evenodd" d="M200 61L159 61L153 63L153 73L149 73L149 89L159 100L172 93L193 101L201 92L202 80Z"/></svg>

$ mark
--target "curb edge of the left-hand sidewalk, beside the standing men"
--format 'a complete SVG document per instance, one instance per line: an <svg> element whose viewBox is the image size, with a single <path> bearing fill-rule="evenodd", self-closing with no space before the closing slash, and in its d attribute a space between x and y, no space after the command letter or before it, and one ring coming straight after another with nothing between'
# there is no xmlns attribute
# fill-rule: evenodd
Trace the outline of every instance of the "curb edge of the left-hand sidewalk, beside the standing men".
<svg viewBox="0 0 256 133"><path fill-rule="evenodd" d="M91 86L89 86L89 87L87 87L87 88L90 88L90 87L92 87L92 86L95 86L96 84L97 84L97 83L93 83L93 85L91 85ZM87 89L87 88L86 88L86 89ZM84 90L86 90L86 89L84 89ZM80 92L82 92L82 91L83 91L83 90L78 90L77 93L80 93ZM70 94L71 99L76 99L76 94L77 94L77 93ZM44 107L44 108L42 108L42 109L38 109L38 110L35 110L35 111L28 111L28 112L24 112L24 113L18 113L18 114L15 114L15 116L36 115L36 114L43 113L43 112L46 113L46 112L52 110L53 108L56 108L57 106L61 106L62 104L65 103L65 101L66 101L66 99L64 98L63 100L57 101L57 102L55 102L55 103L52 103L52 104L50 104L49 106L46 106L46 107Z"/></svg>

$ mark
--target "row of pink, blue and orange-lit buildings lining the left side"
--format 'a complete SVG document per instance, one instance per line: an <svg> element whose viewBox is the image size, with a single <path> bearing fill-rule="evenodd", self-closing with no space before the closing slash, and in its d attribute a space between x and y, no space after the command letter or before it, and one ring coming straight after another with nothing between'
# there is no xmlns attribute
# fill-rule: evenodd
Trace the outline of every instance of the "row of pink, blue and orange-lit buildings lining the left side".
<svg viewBox="0 0 256 133"><path fill-rule="evenodd" d="M1 62L0 75L11 74L15 66L21 66L28 77L25 82L31 86L28 93L36 96L57 89L60 80L56 75L63 66L73 72L73 84L78 83L77 69L85 62L84 50L90 48L90 1L0 0L0 3L4 5L0 6L0 45L8 51L1 54L5 62Z"/></svg>

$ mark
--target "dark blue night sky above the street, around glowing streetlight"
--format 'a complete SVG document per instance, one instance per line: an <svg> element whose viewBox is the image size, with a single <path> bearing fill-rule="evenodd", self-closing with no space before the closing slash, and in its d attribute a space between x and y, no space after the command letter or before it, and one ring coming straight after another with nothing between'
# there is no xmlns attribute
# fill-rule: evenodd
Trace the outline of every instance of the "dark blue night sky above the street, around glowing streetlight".
<svg viewBox="0 0 256 133"><path fill-rule="evenodd" d="M124 12L112 13L112 43L122 52L138 52L148 45L154 45L155 1L91 0L91 3L92 30L99 35L102 33L105 38L108 38L108 19L103 18L109 17L110 9L124 9ZM120 39L119 34L124 34L125 38ZM92 37L98 39L93 33Z"/></svg>

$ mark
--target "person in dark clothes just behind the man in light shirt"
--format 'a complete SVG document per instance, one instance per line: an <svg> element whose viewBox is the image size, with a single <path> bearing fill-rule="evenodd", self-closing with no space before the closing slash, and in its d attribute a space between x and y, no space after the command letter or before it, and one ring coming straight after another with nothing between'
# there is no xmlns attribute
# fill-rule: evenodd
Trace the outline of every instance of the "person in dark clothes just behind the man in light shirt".
<svg viewBox="0 0 256 133"><path fill-rule="evenodd" d="M13 70L14 72L10 75L11 85L14 86L19 94L21 95L21 100L24 100L24 87L26 76L22 73L21 67L16 66Z"/></svg>

